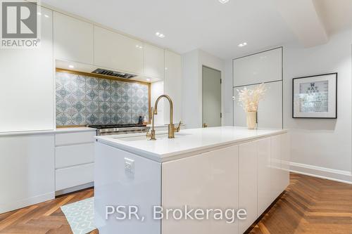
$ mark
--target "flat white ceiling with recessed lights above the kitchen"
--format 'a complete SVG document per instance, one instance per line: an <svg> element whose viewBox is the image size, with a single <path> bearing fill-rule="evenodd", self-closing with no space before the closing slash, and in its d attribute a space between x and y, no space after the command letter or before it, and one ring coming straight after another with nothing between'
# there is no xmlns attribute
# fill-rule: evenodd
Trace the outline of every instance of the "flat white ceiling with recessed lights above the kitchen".
<svg viewBox="0 0 352 234"><path fill-rule="evenodd" d="M309 0L307 0L309 1ZM328 11L351 0L315 0L328 21L329 32L341 22ZM42 0L63 11L80 15L153 44L185 53L201 48L219 58L235 58L296 40L272 0ZM318 7L317 7L318 8ZM352 11L351 7L344 13ZM351 13L348 18L351 19ZM331 23L330 23L331 21ZM351 25L351 20L348 24ZM325 22L326 23L326 22ZM337 26L339 25L339 26ZM165 34L165 38L155 33ZM247 46L237 45L247 42Z"/></svg>

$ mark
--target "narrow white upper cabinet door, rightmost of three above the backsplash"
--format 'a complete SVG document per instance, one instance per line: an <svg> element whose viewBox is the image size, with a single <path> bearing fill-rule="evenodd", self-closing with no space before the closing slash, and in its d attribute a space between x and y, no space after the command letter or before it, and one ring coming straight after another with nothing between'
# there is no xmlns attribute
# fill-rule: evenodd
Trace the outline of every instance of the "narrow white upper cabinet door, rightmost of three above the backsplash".
<svg viewBox="0 0 352 234"><path fill-rule="evenodd" d="M164 78L164 50L144 43L144 75L158 79Z"/></svg>

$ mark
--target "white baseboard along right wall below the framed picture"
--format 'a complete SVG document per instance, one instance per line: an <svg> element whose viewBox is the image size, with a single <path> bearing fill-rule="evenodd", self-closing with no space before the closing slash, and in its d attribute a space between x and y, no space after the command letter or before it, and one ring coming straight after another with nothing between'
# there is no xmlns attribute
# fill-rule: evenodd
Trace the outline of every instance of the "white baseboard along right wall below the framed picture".
<svg viewBox="0 0 352 234"><path fill-rule="evenodd" d="M294 173L303 174L307 176L314 176L318 178L325 178L330 181L352 184L351 171L341 171L325 167L316 167L297 162L289 162L289 168L290 171Z"/></svg>

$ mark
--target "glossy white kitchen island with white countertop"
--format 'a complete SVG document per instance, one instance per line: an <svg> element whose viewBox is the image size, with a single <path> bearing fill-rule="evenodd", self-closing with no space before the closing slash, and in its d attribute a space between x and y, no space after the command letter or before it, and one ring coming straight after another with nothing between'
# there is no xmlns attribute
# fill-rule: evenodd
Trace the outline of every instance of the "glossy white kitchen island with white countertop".
<svg viewBox="0 0 352 234"><path fill-rule="evenodd" d="M143 134L97 137L99 233L244 233L289 184L286 130L222 126L182 130L172 139L161 132L156 139L148 141ZM185 206L207 212L244 209L246 214L235 220L172 215ZM153 219L160 218L161 207L163 219ZM137 209L138 215L128 219Z"/></svg>

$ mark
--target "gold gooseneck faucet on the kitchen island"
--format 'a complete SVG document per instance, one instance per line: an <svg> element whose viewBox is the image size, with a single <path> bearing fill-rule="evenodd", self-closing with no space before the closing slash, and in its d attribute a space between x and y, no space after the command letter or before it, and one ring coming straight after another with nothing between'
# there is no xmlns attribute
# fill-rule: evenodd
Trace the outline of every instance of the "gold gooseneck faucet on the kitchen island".
<svg viewBox="0 0 352 234"><path fill-rule="evenodd" d="M165 95L165 94L161 95L160 97L158 97L158 99L156 99L156 103L154 105L154 108L151 108L151 113L152 113L151 133L149 134L149 131L146 133L146 137L150 138L150 140L152 140L152 141L156 140L155 129L154 129L154 115L158 115L158 103L159 103L159 100L161 100L161 98L168 99L168 101L170 103L170 124L168 124L168 138L175 138L175 132L180 131L181 124L182 124L182 122L180 121L178 126L175 128L175 125L173 124L173 117L172 117L173 116L172 100L171 100L170 96L168 96L168 95Z"/></svg>

